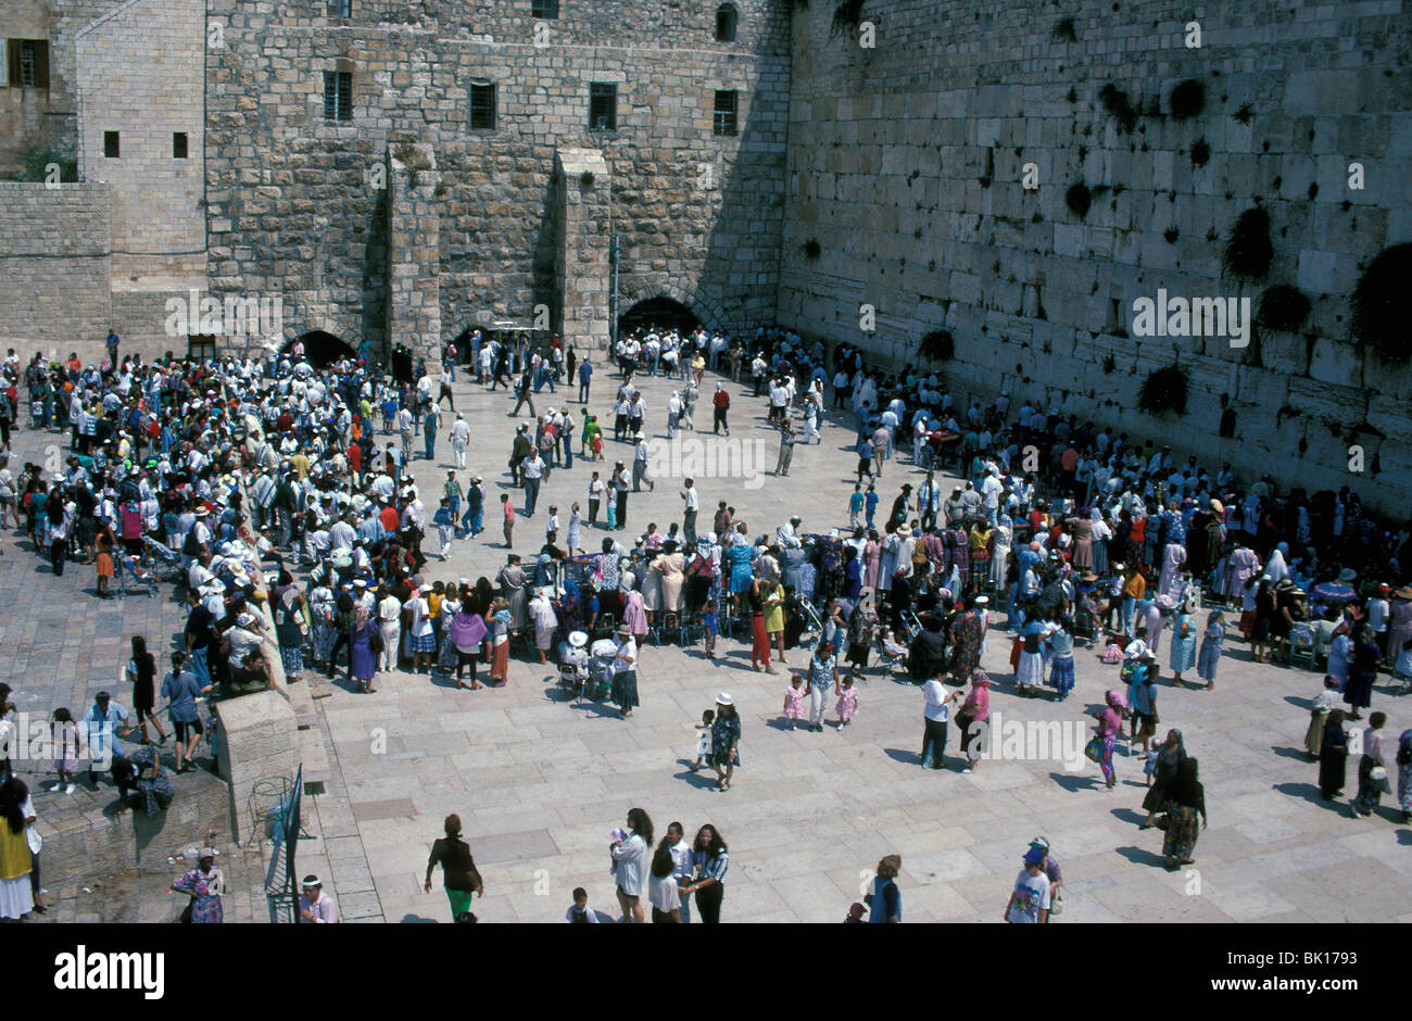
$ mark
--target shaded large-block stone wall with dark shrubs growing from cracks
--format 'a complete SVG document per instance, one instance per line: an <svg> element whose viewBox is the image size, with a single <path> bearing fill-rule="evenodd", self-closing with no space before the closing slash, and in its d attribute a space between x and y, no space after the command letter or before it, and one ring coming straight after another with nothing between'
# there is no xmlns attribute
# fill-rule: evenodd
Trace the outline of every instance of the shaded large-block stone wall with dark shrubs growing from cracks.
<svg viewBox="0 0 1412 1021"><path fill-rule="evenodd" d="M1361 268L1412 240L1404 4L1220 4L1204 8L1195 49L1192 8L1173 0L866 0L871 49L857 32L830 38L834 7L795 17L782 321L894 364L945 328L953 388L988 401L1008 387L1017 402L1163 436L1204 463L1351 484L1405 511L1412 373L1348 330ZM1178 119L1169 96L1189 78L1204 109ZM1100 99L1108 83L1128 96L1131 131ZM1029 162L1035 191L1021 182ZM1347 186L1350 162L1364 191ZM1065 201L1079 182L1086 217ZM1231 227L1257 203L1269 273L1223 275ZM1264 330L1247 349L1130 335L1134 299L1158 288L1258 305L1274 284L1312 302L1298 333ZM874 333L858 329L861 304L877 311ZM1135 411L1145 376L1173 360L1190 373L1185 417ZM1378 455L1377 474L1347 470L1351 443Z"/></svg>

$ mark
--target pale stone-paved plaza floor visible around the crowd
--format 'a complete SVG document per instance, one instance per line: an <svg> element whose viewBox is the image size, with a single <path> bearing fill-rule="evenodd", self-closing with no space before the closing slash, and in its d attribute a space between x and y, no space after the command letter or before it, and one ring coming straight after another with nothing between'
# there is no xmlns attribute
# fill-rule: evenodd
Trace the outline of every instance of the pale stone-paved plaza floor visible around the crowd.
<svg viewBox="0 0 1412 1021"><path fill-rule="evenodd" d="M599 369L590 407L606 411L616 383L606 366ZM640 383L648 431L661 435L672 384ZM772 473L777 439L764 426L764 401L729 386L733 438L761 439L768 450L762 467ZM712 388L707 376L703 391ZM486 479L489 528L479 539L457 541L445 563L432 554L428 580L493 578L505 552L496 508L508 480L510 397L503 390L486 394L465 374L455 390L456 407L474 431L470 473ZM558 395L546 390L537 407L566 395L563 387ZM582 408L575 404L573 411L582 424ZM703 419L705 401L698 424ZM66 443L56 434L16 435L21 462L42 456L44 443ZM709 432L700 438L716 442ZM803 515L806 532L844 525L856 463L851 438L847 425L830 419L822 445L798 448L788 479L767 474L757 489L743 477L699 477L700 531L709 528L719 498L737 508L753 534L772 531L791 513ZM604 477L616 458L631 459L627 445L607 442L604 449L607 462L597 466ZM424 497L439 491L448 467L443 436L435 462L415 463ZM528 558L538 548L548 504L556 503L563 520L573 500L586 506L590 470L575 458L572 469L554 472L541 496L545 510L517 524L517 552ZM907 456L888 462L880 510L885 514L902 482L919 479ZM631 496L630 530L620 539L650 520L664 532L679 521L678 482L664 477L655 493ZM583 544L594 549L603 535L585 528ZM435 539L425 545L433 549ZM92 568L72 565L55 579L13 532L3 548L0 674L17 688L21 710L68 705L79 712L99 688L126 693L119 671L127 637L143 633L161 654L181 627L169 589L161 599L102 603L93 597ZM1395 798L1384 798L1377 818L1358 822L1347 802L1330 806L1319 799L1317 767L1302 747L1319 675L1251 664L1238 641L1227 641L1214 692L1161 689L1161 729L1183 730L1202 763L1210 812L1195 871L1175 874L1161 867L1162 833L1137 828L1144 781L1135 757L1115 760L1114 792L1104 791L1087 761L1077 772L1052 758L988 761L970 775L955 768L923 772L922 696L911 683L874 671L846 732L789 733L779 724L785 675L751 672L748 645L740 641L726 640L722 651L710 662L700 650L648 644L640 668L642 706L630 720L609 706L561 700L552 668L521 659L513 661L505 688L477 692L401 672L380 676L376 693L357 695L340 679L315 702L335 775L323 795L305 799L318 839L301 843L301 871L321 871L350 919L449 921L439 877L431 895L421 891L421 878L442 818L459 812L486 880L487 897L474 907L481 921L562 921L576 885L589 890L593 907L616 914L609 830L623 825L628 808L641 806L658 833L674 819L688 833L706 822L720 829L731 856L723 905L730 922L840 921L888 853L902 856L905 921L995 922L1019 854L1038 835L1049 837L1063 867L1063 922L1412 921L1412 876L1398 871L1412 829L1395 823ZM1163 641L1163 672L1166 655ZM806 659L805 650L789 652L791 667ZM991 637L984 665L995 678L993 712L1007 719L1082 722L1101 705L1103 692L1117 686L1118 668L1080 650L1077 686L1067 702L1019 699L1001 634ZM724 794L688 770L696 743L692 724L720 691L736 698L744 727L744 765ZM1396 734L1408 726L1412 699L1399 700L1392 691L1380 678L1372 707L1388 712L1387 733ZM174 777L178 796L185 780ZM58 811L64 796L37 791L40 815ZM254 878L243 880L239 907L227 901L227 919L267 915L249 854L237 854L241 876ZM178 873L174 867L172 877ZM158 867L103 890L161 901L161 911L140 912L145 921L176 905L165 892L168 881ZM103 890L90 897L119 895ZM68 897L72 904L73 891ZM110 921L133 916L90 904L66 909L61 919L95 914Z"/></svg>

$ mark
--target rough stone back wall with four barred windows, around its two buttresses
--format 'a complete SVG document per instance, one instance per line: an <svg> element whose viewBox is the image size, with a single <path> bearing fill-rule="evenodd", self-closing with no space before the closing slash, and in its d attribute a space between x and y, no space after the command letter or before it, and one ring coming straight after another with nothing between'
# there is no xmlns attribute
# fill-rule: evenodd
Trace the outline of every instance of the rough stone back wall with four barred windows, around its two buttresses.
<svg viewBox="0 0 1412 1021"><path fill-rule="evenodd" d="M552 215L556 148L603 153L626 298L664 294L709 322L770 318L788 120L788 4L743 0L736 41L716 3L323 4L213 0L208 64L212 289L278 289L287 333L354 346L385 336L388 145L435 150L441 323L562 314ZM537 35L538 25L538 35ZM537 45L538 42L538 45ZM323 72L353 76L353 120L323 120ZM497 86L497 129L469 129L472 79ZM617 130L587 130L589 83L617 82ZM738 134L712 133L714 89L738 90ZM383 182L385 184L385 182ZM624 302L624 306L630 301Z"/></svg>

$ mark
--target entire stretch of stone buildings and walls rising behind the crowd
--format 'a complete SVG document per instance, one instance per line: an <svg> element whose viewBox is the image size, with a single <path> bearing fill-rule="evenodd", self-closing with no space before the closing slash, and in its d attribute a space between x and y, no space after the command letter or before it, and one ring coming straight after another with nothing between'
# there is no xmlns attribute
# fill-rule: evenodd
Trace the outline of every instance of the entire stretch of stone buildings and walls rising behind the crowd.
<svg viewBox="0 0 1412 1021"><path fill-rule="evenodd" d="M110 318L182 349L162 312L191 287L280 299L273 336L217 346L429 354L494 321L602 345L614 312L668 299L931 363L963 398L1008 387L1182 455L1388 508L1412 496L1412 373L1360 339L1351 304L1412 241L1399 0L14 0L0 17L47 38L51 134L85 169L76 192L0 192L18 271L0 342ZM0 93L3 164L40 114ZM65 217L68 261L41 258L24 225ZM82 330L52 321L65 281L106 288ZM1248 299L1261 325L1237 345L1145 336L1159 295ZM1185 410L1139 407L1159 370Z"/></svg>

